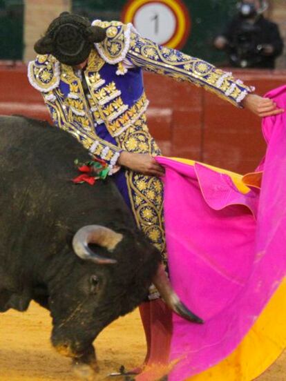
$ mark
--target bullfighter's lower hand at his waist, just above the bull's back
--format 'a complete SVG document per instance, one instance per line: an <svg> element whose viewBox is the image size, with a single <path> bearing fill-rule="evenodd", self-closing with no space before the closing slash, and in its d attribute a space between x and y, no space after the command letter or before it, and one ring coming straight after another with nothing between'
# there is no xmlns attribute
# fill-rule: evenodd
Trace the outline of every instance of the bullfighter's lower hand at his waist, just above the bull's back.
<svg viewBox="0 0 286 381"><path fill-rule="evenodd" d="M123 151L117 160L117 164L125 166L143 175L160 177L164 175L164 168L147 153L131 153Z"/></svg>

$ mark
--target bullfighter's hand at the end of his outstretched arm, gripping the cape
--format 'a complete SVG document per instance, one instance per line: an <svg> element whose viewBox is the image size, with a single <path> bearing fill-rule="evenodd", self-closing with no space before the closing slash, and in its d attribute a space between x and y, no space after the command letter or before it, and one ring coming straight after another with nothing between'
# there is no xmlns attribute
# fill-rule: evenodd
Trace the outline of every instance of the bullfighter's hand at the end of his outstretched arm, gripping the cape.
<svg viewBox="0 0 286 381"><path fill-rule="evenodd" d="M278 108L276 103L269 98L260 97L256 94L248 94L242 100L242 106L248 108L252 113L258 117L269 117L271 115L278 115L284 113L285 110Z"/></svg>

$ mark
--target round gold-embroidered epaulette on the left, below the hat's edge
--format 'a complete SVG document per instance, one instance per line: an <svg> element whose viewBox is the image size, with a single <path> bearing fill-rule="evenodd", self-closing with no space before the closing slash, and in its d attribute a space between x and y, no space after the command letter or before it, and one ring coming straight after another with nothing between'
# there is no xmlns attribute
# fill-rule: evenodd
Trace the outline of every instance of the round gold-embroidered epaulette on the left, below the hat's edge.
<svg viewBox="0 0 286 381"><path fill-rule="evenodd" d="M52 55L38 55L28 64L30 84L41 92L49 92L59 86L60 64Z"/></svg>

